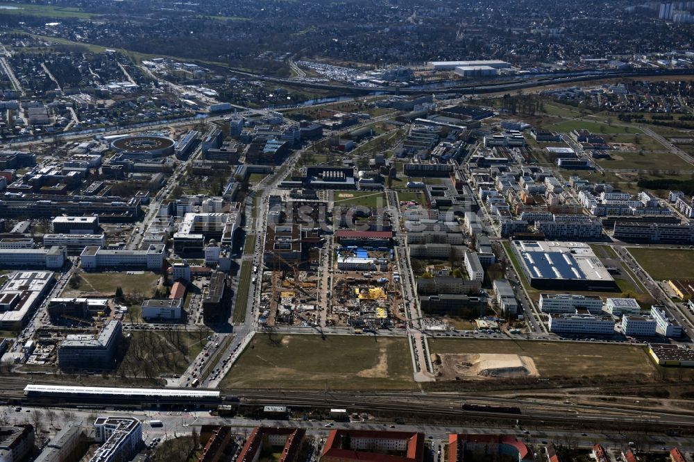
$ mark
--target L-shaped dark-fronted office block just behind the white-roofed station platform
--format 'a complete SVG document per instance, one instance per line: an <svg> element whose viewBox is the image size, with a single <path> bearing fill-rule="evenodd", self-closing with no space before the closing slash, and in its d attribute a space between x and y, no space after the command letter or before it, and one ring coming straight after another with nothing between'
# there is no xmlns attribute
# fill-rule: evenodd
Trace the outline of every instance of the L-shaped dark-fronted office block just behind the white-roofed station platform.
<svg viewBox="0 0 694 462"><path fill-rule="evenodd" d="M58 347L62 369L104 369L115 366L114 357L121 338L119 320L110 320L98 335L69 334Z"/></svg>

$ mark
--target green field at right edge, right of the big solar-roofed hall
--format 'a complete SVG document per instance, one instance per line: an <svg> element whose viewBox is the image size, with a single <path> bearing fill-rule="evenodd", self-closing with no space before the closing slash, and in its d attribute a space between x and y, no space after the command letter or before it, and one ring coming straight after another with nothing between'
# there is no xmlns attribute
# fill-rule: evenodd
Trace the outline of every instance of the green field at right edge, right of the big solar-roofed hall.
<svg viewBox="0 0 694 462"><path fill-rule="evenodd" d="M654 280L694 279L694 250L646 247L628 250Z"/></svg>

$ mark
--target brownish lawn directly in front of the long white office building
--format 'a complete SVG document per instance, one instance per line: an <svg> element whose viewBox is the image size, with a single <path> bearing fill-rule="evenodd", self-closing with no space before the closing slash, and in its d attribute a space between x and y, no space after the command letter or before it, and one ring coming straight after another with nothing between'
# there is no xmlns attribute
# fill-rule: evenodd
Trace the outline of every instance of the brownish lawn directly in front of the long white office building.
<svg viewBox="0 0 694 462"><path fill-rule="evenodd" d="M161 277L152 271L136 271L135 274L119 273L78 273L81 284L77 291L98 292L106 295L115 293L116 287L121 287L123 293L139 292L149 297L157 288L157 281ZM69 286L66 291L73 291Z"/></svg>

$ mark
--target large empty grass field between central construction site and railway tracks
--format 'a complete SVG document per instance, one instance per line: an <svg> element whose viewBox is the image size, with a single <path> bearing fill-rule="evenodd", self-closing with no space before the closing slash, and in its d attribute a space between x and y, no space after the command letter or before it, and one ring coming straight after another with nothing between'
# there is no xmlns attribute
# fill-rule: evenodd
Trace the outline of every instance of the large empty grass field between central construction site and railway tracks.
<svg viewBox="0 0 694 462"><path fill-rule="evenodd" d="M221 388L410 389L407 339L256 334Z"/></svg>

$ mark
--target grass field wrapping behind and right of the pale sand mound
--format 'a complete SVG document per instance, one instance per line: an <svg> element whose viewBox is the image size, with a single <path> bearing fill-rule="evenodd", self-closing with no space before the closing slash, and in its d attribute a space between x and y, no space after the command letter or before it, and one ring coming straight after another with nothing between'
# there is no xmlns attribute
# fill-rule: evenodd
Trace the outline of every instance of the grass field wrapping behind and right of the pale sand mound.
<svg viewBox="0 0 694 462"><path fill-rule="evenodd" d="M432 353L518 354L531 357L541 378L648 374L654 366L643 347L602 343L485 339L430 339Z"/></svg>

